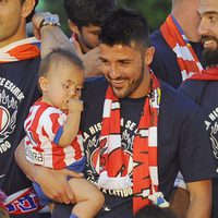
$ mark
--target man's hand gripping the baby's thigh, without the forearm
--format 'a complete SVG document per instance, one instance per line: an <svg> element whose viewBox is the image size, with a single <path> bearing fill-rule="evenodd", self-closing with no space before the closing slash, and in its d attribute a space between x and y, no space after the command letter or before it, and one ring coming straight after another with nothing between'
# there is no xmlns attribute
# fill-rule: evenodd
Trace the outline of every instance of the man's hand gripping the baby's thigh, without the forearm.
<svg viewBox="0 0 218 218"><path fill-rule="evenodd" d="M34 179L49 198L55 202L70 204L75 203L75 196L68 182L68 177L82 178L83 174L68 169L52 170L37 167Z"/></svg>

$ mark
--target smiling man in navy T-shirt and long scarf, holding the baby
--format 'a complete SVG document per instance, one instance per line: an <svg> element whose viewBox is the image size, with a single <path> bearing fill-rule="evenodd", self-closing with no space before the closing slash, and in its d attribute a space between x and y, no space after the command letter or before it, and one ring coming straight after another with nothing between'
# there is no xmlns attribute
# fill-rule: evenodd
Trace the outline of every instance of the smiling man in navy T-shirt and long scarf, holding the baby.
<svg viewBox="0 0 218 218"><path fill-rule="evenodd" d="M208 218L215 169L203 113L149 71L154 48L148 38L141 14L116 10L100 34L105 77L84 85L84 173L106 197L97 217L132 218L147 204L169 206L166 201L181 170L192 199L186 217ZM61 172L28 164L22 146L16 157L29 178L48 194L53 192L51 181ZM62 179L66 181L66 177ZM58 205L52 217L68 217L69 213L70 205Z"/></svg>

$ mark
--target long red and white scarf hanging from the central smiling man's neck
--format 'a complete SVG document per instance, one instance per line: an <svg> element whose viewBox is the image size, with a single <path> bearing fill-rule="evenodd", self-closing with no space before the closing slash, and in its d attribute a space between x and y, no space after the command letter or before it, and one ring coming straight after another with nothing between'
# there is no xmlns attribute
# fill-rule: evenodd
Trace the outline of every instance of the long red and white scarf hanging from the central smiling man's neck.
<svg viewBox="0 0 218 218"><path fill-rule="evenodd" d="M133 186L134 214L145 205L169 206L158 191L157 123L160 104L159 82L150 74L150 88L146 96L133 145L133 183L125 165L121 145L120 102L108 87L102 113L98 186L124 190Z"/></svg>

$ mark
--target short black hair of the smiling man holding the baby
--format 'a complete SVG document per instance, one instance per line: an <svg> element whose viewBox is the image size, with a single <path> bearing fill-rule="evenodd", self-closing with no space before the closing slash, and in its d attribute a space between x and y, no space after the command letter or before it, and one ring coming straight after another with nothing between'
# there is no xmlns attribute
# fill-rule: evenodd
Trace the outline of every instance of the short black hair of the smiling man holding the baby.
<svg viewBox="0 0 218 218"><path fill-rule="evenodd" d="M149 28L145 17L132 9L117 9L101 26L99 40L108 46L117 44L147 47L149 45Z"/></svg>

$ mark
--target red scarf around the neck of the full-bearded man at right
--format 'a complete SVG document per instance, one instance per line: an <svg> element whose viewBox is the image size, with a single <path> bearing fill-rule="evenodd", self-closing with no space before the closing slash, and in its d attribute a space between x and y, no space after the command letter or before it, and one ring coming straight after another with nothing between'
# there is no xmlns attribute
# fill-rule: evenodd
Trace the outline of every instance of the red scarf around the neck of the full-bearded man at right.
<svg viewBox="0 0 218 218"><path fill-rule="evenodd" d="M189 80L193 81L218 81L218 65L203 70L201 74L194 74Z"/></svg>

